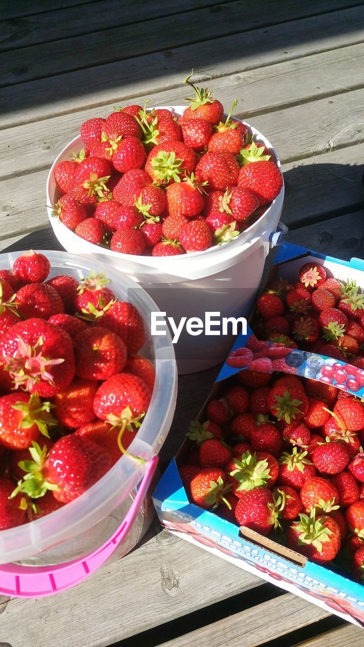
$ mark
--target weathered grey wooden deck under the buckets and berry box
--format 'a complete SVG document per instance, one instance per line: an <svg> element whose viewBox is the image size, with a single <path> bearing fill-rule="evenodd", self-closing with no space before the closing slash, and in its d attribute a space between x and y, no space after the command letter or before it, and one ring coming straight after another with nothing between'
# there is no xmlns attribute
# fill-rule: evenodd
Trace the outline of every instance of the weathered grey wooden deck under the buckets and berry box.
<svg viewBox="0 0 364 647"><path fill-rule="evenodd" d="M3 0L0 18L1 250L60 248L45 181L65 142L113 104L180 102L194 67L279 151L287 239L363 257L364 3ZM180 379L163 465L217 372ZM156 521L133 553L76 589L1 598L0 614L0 647L363 644L359 628Z"/></svg>

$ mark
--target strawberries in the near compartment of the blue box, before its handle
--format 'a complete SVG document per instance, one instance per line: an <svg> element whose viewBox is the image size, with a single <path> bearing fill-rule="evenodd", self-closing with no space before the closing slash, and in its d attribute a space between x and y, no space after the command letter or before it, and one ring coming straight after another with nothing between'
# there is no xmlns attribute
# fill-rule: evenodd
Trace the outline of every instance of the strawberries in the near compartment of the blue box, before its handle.
<svg viewBox="0 0 364 647"><path fill-rule="evenodd" d="M331 384L241 371L191 423L190 501L364 578L364 404Z"/></svg>

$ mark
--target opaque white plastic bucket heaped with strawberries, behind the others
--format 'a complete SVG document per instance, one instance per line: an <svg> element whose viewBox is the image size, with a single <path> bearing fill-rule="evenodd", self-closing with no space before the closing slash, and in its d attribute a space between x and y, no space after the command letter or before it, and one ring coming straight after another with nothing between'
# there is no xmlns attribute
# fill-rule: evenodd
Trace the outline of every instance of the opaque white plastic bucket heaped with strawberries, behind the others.
<svg viewBox="0 0 364 647"><path fill-rule="evenodd" d="M173 111L175 115L182 115L185 109L181 105L161 107ZM277 152L266 137L247 122L242 123L248 127L257 142L262 142L271 150L272 157L280 167ZM59 197L54 181L54 167L62 160L70 159L71 151L81 148L81 137L76 137L67 144L54 161L47 179L49 219L54 234L67 251L92 254L100 259L107 256L110 265L140 283L152 295L159 309L166 312L167 316L172 316L175 322L179 322L181 316L204 320L205 313L213 311L218 311L221 317L249 314L262 278L271 236L279 227L284 186L256 223L227 245L168 258L119 254L84 241L52 217L52 207ZM231 347L232 339L232 334L211 338L203 334L190 336L183 332L176 345L179 373L194 373L222 362Z"/></svg>

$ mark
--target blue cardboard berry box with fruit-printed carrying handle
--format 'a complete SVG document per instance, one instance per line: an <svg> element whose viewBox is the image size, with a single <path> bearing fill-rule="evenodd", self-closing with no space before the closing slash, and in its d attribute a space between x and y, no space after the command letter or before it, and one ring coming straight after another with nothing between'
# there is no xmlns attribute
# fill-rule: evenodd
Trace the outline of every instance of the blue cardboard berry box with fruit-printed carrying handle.
<svg viewBox="0 0 364 647"><path fill-rule="evenodd" d="M345 280L355 279L358 285L364 285L363 261L353 259L350 263L344 263L293 245L284 245L280 248L269 280L273 276L282 276L289 280L292 272L301 267L302 258L317 259L317 262L327 267L332 276ZM326 384L328 382L321 373L321 369L323 366L336 364L336 370L341 370L346 375L359 373L359 381L362 381L362 384L359 389L355 388L352 391L349 388L350 382L348 386L346 380L343 382L342 378L339 382L332 380L330 383L352 395L363 397L364 371L362 375L357 367L317 353L292 351L287 348L284 349L283 356L277 356L277 353L282 355L282 346L269 342L267 342L266 351L254 359L253 352L249 349L251 345L249 338L251 339L252 336L253 332L247 326L246 334L240 334L236 339L227 362L223 365L210 396L198 415L200 422L206 419L205 410L209 401L219 397L236 373L244 369L249 370L249 364L251 370L264 372L280 370L283 373L299 375L303 379L311 378ZM270 364L266 360L269 360ZM330 569L330 565L310 562L302 554L275 542L270 536L262 536L246 527L239 528L238 525L215 514L213 510L202 509L188 500L178 466L185 462L190 447L191 443L187 439L166 469L154 492L154 505L162 525L177 536L199 545L253 575L310 600L313 604L353 624L364 627L364 586L359 582L340 575Z"/></svg>

